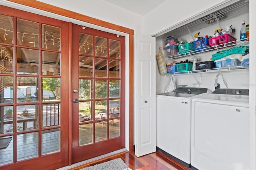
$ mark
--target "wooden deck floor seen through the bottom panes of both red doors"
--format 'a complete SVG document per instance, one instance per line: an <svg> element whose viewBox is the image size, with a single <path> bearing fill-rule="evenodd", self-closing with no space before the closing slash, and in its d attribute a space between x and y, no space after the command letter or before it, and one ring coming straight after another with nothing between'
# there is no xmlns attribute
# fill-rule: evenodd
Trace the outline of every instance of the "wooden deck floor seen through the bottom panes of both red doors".
<svg viewBox="0 0 256 170"><path fill-rule="evenodd" d="M90 124L89 124L90 125ZM96 141L105 140L107 136L106 121L95 123L96 128ZM109 121L109 136L110 138L119 136L119 119ZM13 136L7 148L0 149L0 165L13 162ZM92 129L80 128L80 145L90 144L92 142ZM17 135L17 161L38 156L38 132L29 132L25 134ZM60 129L43 130L42 131L42 155L49 154L51 152L60 151Z"/></svg>

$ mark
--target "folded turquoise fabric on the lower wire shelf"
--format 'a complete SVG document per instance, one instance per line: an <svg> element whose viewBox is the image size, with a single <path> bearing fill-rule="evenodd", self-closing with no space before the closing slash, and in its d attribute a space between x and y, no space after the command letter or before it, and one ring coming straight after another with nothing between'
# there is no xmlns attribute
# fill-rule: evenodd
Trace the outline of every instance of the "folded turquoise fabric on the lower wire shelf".
<svg viewBox="0 0 256 170"><path fill-rule="evenodd" d="M239 46L239 47L232 47L229 49L224 49L222 51L218 51L215 54L212 54L212 61L217 59L221 59L231 54L244 54L244 51L249 51L249 46Z"/></svg>

